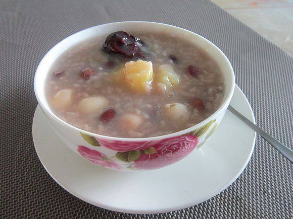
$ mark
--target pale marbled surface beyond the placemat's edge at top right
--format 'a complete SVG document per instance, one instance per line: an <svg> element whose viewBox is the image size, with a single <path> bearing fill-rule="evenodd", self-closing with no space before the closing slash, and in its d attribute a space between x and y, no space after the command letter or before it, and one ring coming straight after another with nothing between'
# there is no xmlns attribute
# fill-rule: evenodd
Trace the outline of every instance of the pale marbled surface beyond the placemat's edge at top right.
<svg viewBox="0 0 293 219"><path fill-rule="evenodd" d="M212 0L293 56L293 0Z"/></svg>

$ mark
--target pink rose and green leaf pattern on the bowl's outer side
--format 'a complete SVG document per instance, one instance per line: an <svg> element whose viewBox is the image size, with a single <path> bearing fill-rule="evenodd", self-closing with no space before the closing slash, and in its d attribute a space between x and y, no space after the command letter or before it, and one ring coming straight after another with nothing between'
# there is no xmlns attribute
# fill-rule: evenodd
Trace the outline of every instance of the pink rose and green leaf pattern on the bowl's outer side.
<svg viewBox="0 0 293 219"><path fill-rule="evenodd" d="M194 148L201 147L216 127L216 120L212 120L190 133L159 141L104 140L81 133L84 140L92 146L110 149L115 151L116 155L107 158L101 152L83 145L78 145L77 151L86 160L102 167L116 170L153 170L173 164L190 154ZM199 140L207 132L206 137Z"/></svg>

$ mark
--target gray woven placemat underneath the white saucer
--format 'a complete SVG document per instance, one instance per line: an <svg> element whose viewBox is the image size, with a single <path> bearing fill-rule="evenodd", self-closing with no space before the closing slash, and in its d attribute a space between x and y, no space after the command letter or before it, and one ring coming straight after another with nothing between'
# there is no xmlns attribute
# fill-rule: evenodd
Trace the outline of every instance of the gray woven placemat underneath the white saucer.
<svg viewBox="0 0 293 219"><path fill-rule="evenodd" d="M230 59L258 124L292 147L293 58L213 3L0 0L0 217L292 218L292 166L260 137L248 167L229 188L199 205L164 214L95 207L46 173L31 135L37 105L33 76L40 59L74 32L127 20L172 24L218 45Z"/></svg>

